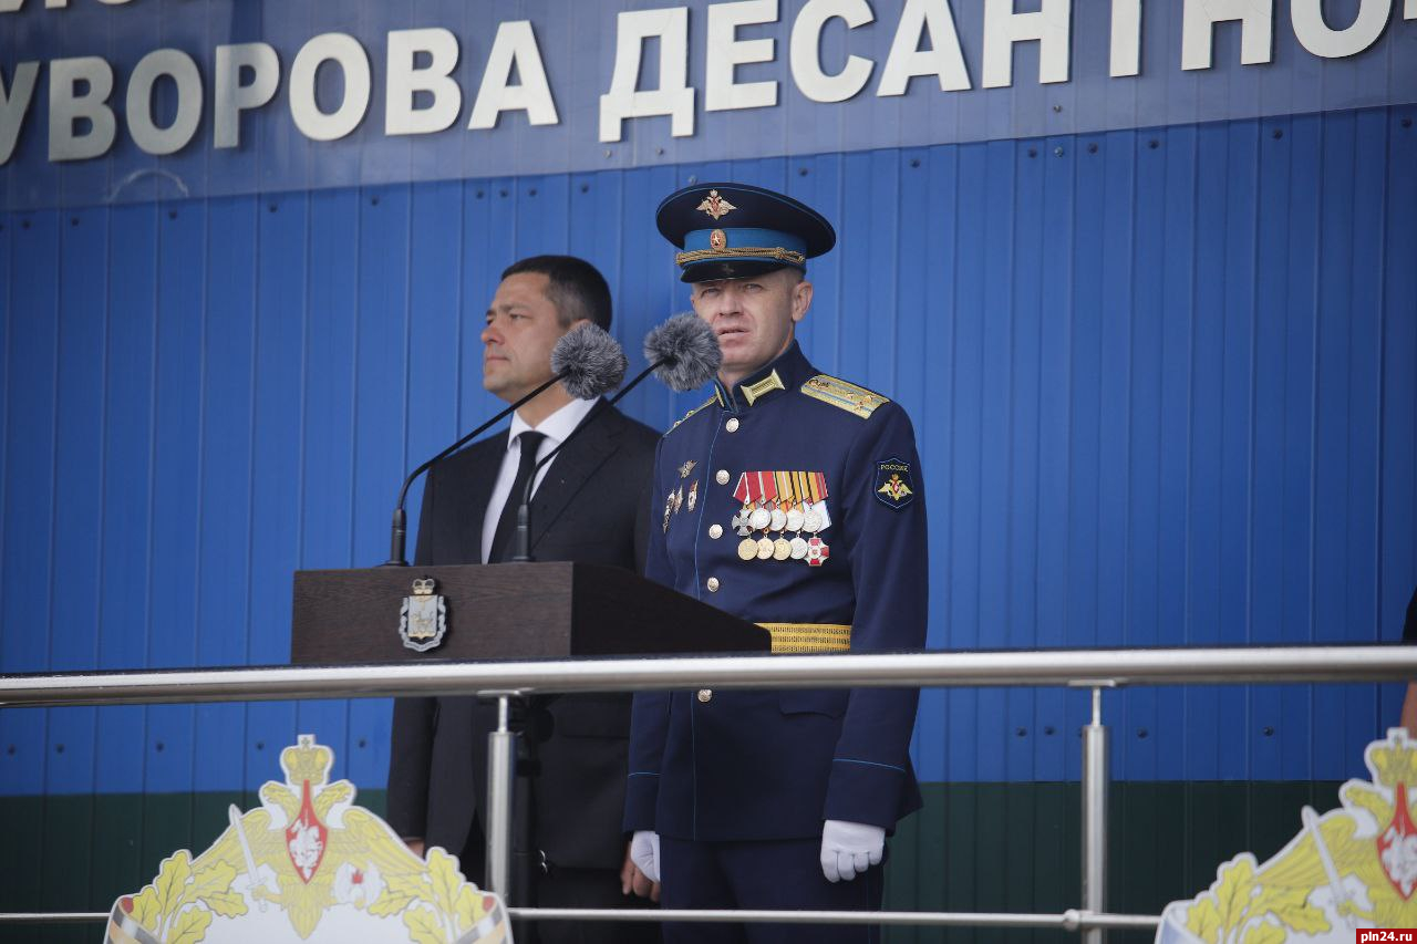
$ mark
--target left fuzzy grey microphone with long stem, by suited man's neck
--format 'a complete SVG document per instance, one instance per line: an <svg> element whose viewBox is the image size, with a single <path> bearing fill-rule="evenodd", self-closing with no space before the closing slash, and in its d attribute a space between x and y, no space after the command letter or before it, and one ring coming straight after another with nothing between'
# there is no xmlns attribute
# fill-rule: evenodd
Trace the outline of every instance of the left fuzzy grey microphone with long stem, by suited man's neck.
<svg viewBox="0 0 1417 944"><path fill-rule="evenodd" d="M625 377L628 366L629 361L625 359L625 350L619 346L619 342L598 325L587 323L574 332L563 335L561 340L551 349L551 371L554 376L550 380L408 473L408 478L404 479L404 488L398 490L398 505L394 506L390 557L384 563L384 567L408 567L408 561L404 560L408 537L408 516L404 513L404 500L408 498L408 488L419 475L461 449L473 437L482 435L496 422L509 417L513 410L526 405L543 394L551 384L561 383L572 397L591 400L608 390L614 390Z"/></svg>

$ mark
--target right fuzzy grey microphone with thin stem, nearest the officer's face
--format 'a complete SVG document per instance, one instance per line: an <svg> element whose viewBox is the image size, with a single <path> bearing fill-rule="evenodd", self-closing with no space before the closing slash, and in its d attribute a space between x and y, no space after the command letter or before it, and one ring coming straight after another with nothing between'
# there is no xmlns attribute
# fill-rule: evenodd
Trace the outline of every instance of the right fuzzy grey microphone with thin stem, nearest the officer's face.
<svg viewBox="0 0 1417 944"><path fill-rule="evenodd" d="M623 364L625 354L621 352L621 361ZM618 394L611 397L609 405L619 403L625 394L638 387L650 373L653 373L665 384L677 390L680 393L689 390L697 390L706 383L714 378L718 373L718 364L723 363L723 352L718 349L718 337L708 327L708 323L693 312L683 312L674 315L667 322L655 326L649 335L645 336L645 360L649 361L649 367L639 371L632 381L625 384ZM554 361L553 361L554 363ZM625 376L623 366L621 367L619 377L615 378L618 384ZM608 387L606 390L612 388ZM582 397L588 400L589 397ZM541 456L536 463L531 475L527 478L526 489L521 492L521 505L517 506L517 532L516 532L516 549L517 553L513 554L512 560L517 563L530 563L531 557L531 488L536 483L536 476L547 462L550 462L557 452L564 449L571 439L574 439L581 429L589 425L589 421L581 422L571 435L565 437L558 446Z"/></svg>

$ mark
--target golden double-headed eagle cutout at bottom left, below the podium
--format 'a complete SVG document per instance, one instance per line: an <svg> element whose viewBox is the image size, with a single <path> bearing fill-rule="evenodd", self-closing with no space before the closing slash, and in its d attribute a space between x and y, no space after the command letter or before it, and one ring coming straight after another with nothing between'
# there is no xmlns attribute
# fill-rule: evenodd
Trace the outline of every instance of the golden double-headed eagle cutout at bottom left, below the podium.
<svg viewBox="0 0 1417 944"><path fill-rule="evenodd" d="M152 884L119 897L105 941L300 944L319 930L360 944L507 944L500 899L469 884L442 849L414 855L354 805L351 782L330 781L333 763L334 751L302 734L281 751L285 782L261 787L258 809L231 807L210 849L179 849Z"/></svg>

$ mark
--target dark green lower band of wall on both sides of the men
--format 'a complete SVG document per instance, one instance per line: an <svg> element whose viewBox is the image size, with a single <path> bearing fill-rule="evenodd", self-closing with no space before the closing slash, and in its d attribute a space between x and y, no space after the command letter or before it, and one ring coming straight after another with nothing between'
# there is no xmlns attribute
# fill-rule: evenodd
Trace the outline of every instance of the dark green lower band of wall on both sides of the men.
<svg viewBox="0 0 1417 944"><path fill-rule="evenodd" d="M1263 862L1301 828L1299 809L1338 807L1339 782L1118 782L1110 799L1112 911L1158 914L1253 850ZM1063 911L1077 907L1077 784L927 784L925 808L891 841L886 907ZM360 804L383 814L384 792ZM139 890L174 849L205 849L227 808L254 792L0 798L0 910L106 911ZM1077 941L1064 931L891 928L891 944ZM96 924L0 930L0 941L95 944ZM1149 941L1146 933L1114 943Z"/></svg>

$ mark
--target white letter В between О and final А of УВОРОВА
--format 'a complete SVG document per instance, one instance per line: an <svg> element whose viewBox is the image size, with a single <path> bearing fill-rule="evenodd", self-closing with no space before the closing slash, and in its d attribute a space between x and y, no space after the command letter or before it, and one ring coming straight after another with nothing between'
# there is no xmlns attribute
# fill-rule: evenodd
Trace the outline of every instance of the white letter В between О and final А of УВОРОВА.
<svg viewBox="0 0 1417 944"><path fill-rule="evenodd" d="M427 52L425 68L414 65ZM448 130L462 111L462 89L451 79L458 65L458 37L449 30L393 30L388 34L388 82L384 103L385 135L432 135ZM434 96L428 108L414 108L414 95Z"/></svg>

